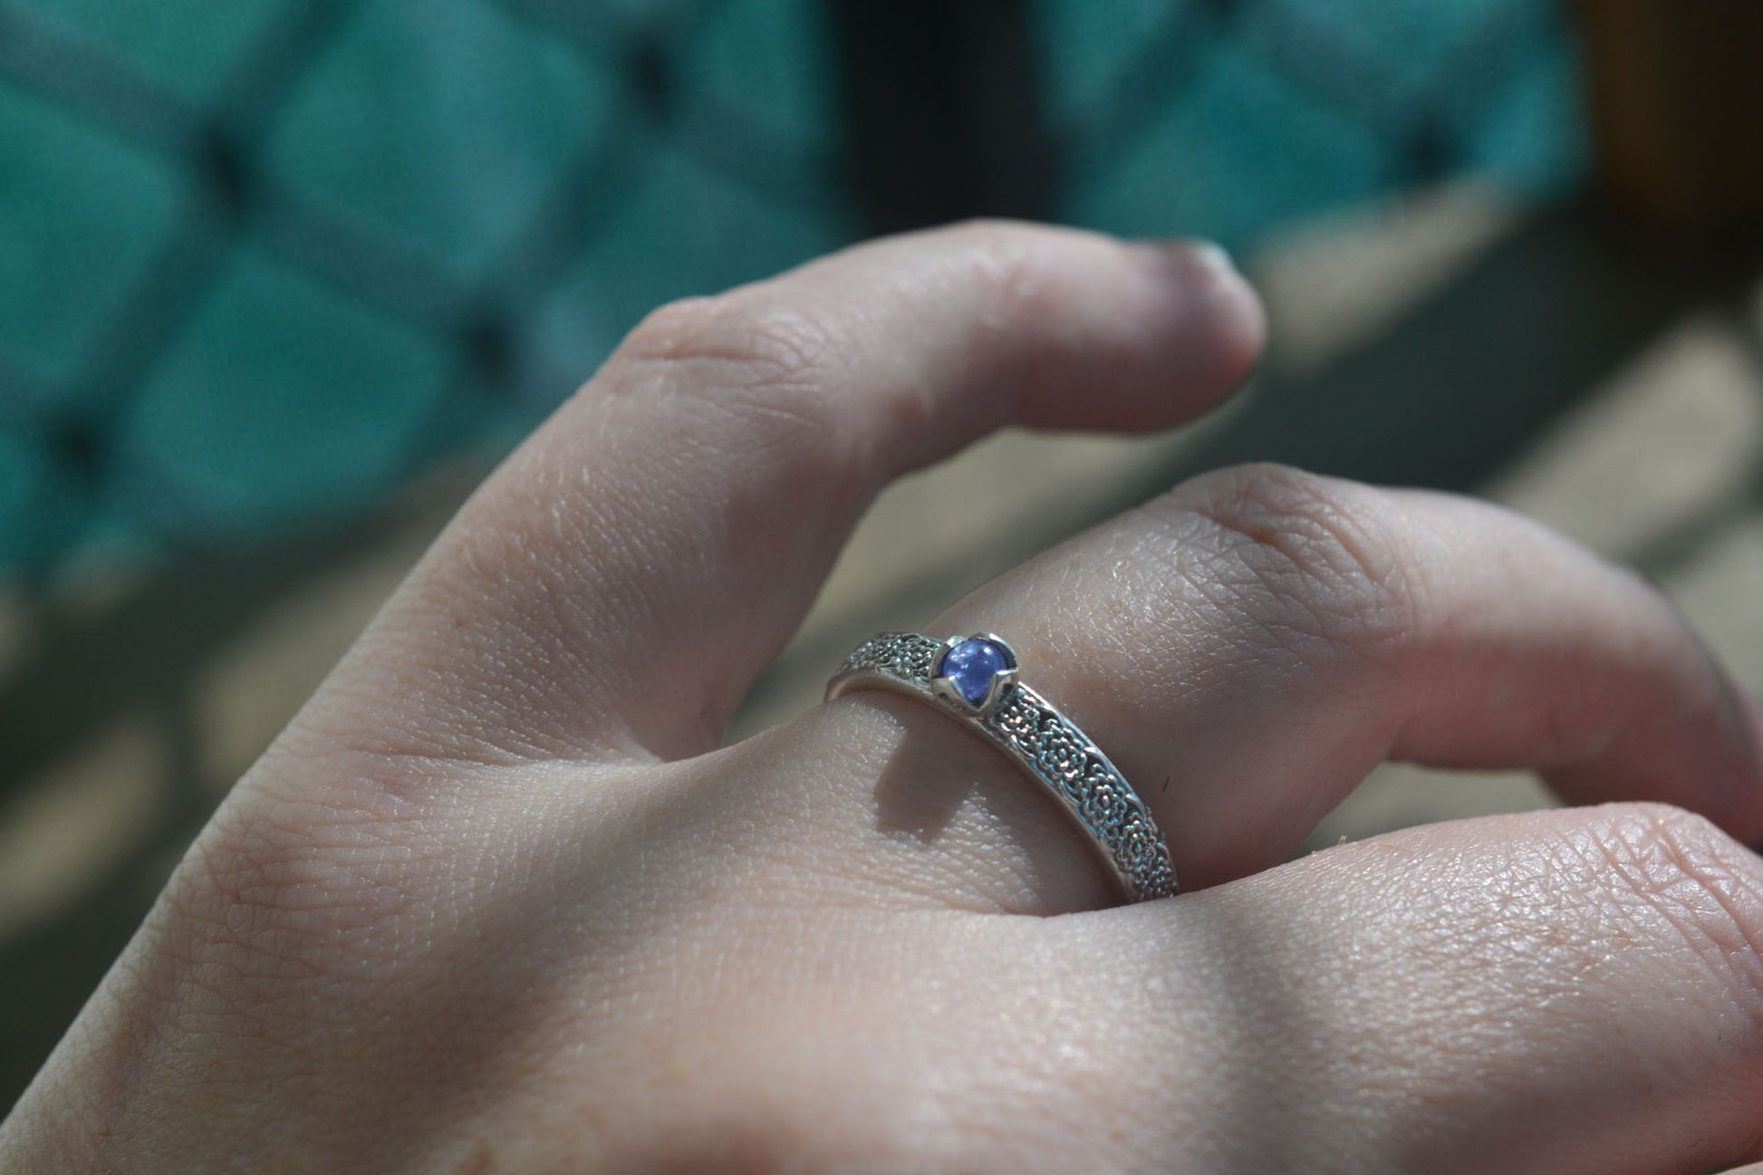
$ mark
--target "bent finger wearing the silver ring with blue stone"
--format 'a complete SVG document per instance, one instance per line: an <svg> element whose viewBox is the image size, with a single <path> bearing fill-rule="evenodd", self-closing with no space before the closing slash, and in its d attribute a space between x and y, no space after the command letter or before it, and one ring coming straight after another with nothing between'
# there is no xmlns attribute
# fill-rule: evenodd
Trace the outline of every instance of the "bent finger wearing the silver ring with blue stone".
<svg viewBox="0 0 1763 1175"><path fill-rule="evenodd" d="M1287 857L1391 757L1539 767L1574 801L1661 799L1763 838L1763 741L1670 605L1469 499L1282 468L1208 475L931 626L980 630L1010 640L1023 681L1135 783L1188 887ZM846 706L867 711L867 730L846 725ZM827 711L804 722L832 723L827 743L866 748L859 778L899 755L957 764L908 789L926 810L973 780L987 797L1033 792L1003 755L911 700L866 692ZM957 739L971 746L952 750ZM1000 803L1030 826L994 826L994 840L1051 838L1068 857L1063 879L1040 868L1028 882L1019 845L996 849L994 872L1015 894L1005 905L1107 900L1053 805L986 799ZM959 873L986 870L964 861Z"/></svg>

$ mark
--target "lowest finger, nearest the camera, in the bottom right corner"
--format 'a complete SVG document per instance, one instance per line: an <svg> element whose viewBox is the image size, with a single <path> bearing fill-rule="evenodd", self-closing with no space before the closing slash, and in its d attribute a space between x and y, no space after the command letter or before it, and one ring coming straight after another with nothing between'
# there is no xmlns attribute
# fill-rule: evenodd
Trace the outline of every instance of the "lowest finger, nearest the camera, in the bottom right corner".
<svg viewBox="0 0 1763 1175"><path fill-rule="evenodd" d="M1758 1157L1763 861L1680 810L1410 829L1053 926L1049 954L1109 967L1038 992L1060 1023L1024 1032L1109 1059L1093 1101L1158 1122L1174 1170Z"/></svg>

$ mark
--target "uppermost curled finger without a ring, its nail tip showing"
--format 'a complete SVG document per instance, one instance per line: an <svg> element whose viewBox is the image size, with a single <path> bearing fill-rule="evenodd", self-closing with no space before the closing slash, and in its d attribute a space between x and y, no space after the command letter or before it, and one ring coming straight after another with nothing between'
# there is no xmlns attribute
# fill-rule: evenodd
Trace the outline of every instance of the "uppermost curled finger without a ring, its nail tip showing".
<svg viewBox="0 0 1763 1175"><path fill-rule="evenodd" d="M1026 224L666 307L465 506L307 725L448 757L702 752L890 478L1005 423L1186 420L1259 342L1215 251Z"/></svg>

